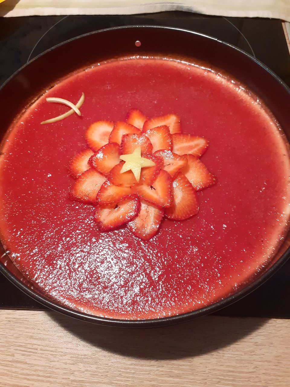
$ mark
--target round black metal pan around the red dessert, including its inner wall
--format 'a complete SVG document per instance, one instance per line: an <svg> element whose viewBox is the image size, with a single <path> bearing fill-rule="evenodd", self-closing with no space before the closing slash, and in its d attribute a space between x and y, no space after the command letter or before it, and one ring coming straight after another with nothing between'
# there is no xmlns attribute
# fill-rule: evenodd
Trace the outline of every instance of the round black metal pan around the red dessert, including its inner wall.
<svg viewBox="0 0 290 387"><path fill-rule="evenodd" d="M141 42L140 47L135 45L136 41ZM229 72L264 101L289 139L290 89L269 68L244 51L210 36L155 26L117 27L85 34L51 48L20 68L0 89L1 137L5 135L14 118L27 104L31 103L46 87L68 73L109 58L154 53L165 57L172 55L192 57ZM290 257L288 245L286 237L268 268L233 295L193 312L154 320L106 319L58 305L33 288L16 269L2 245L0 245L0 271L36 301L68 316L103 325L153 327L201 317L246 296L286 262Z"/></svg>

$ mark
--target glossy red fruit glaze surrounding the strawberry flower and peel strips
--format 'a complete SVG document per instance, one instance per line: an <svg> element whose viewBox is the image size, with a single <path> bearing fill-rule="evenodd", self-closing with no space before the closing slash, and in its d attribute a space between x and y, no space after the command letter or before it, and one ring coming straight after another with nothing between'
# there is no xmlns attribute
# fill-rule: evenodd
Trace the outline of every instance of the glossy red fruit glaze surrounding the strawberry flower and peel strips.
<svg viewBox="0 0 290 387"><path fill-rule="evenodd" d="M82 117L43 120L76 103ZM210 146L201 160L218 183L198 192L200 212L163 219L149 241L130 230L101 233L92 205L73 202L68 161L97 120L175 113L183 133ZM271 114L239 82L175 60L131 58L82 70L20 116L1 157L2 242L49 298L87 313L151 319L188 312L243 286L273 256L289 215L288 150Z"/></svg>

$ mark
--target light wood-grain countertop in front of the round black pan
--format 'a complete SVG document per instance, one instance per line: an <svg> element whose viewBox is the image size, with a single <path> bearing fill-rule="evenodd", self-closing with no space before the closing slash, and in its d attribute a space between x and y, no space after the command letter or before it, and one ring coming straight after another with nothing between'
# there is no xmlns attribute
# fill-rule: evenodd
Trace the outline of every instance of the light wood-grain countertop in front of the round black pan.
<svg viewBox="0 0 290 387"><path fill-rule="evenodd" d="M112 328L0 310L1 387L289 387L290 320Z"/></svg>

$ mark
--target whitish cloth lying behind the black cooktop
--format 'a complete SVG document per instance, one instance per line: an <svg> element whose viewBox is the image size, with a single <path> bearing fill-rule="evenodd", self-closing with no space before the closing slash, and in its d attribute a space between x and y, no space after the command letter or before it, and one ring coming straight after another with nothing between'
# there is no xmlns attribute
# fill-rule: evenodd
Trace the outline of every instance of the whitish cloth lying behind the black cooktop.
<svg viewBox="0 0 290 387"><path fill-rule="evenodd" d="M122 15L184 10L207 15L290 21L290 0L5 0L0 15Z"/></svg>

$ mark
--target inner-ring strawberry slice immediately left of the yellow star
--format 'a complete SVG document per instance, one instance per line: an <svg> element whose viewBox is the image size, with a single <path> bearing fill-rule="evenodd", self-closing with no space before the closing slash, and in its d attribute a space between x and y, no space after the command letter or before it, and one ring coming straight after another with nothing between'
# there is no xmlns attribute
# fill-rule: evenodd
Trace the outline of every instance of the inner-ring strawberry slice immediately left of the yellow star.
<svg viewBox="0 0 290 387"><path fill-rule="evenodd" d="M119 145L111 142L102 146L90 158L90 165L97 171L107 176L109 171L120 162Z"/></svg>

